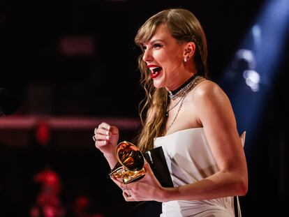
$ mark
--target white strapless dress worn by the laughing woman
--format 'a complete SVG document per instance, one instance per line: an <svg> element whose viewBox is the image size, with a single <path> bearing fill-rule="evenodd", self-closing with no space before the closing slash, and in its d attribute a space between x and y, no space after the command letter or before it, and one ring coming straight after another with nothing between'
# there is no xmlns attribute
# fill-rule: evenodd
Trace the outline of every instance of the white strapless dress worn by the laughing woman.
<svg viewBox="0 0 289 217"><path fill-rule="evenodd" d="M203 128L189 128L156 137L154 147L163 147L175 187L192 184L218 172ZM214 200L173 200L163 202L162 217L233 217L233 197Z"/></svg>

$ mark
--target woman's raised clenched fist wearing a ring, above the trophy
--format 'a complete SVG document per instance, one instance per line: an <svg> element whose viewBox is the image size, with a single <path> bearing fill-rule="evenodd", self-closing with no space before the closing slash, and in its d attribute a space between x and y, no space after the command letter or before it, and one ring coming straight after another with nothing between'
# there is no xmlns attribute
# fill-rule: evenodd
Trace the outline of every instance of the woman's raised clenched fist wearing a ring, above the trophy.
<svg viewBox="0 0 289 217"><path fill-rule="evenodd" d="M119 129L103 122L94 129L94 140L96 148L104 155L114 155L119 140Z"/></svg>

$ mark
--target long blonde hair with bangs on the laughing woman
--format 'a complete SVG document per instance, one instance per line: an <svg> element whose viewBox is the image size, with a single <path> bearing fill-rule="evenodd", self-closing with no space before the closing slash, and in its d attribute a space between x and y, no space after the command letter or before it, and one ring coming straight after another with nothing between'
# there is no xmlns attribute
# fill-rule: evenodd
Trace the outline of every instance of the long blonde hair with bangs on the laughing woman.
<svg viewBox="0 0 289 217"><path fill-rule="evenodd" d="M145 22L135 36L135 43L142 47L149 41L160 24L168 27L173 38L179 43L195 43L195 55L192 61L198 71L198 75L207 77L207 40L205 33L197 18L185 9L163 10ZM138 58L138 66L141 72L141 84L144 87L146 97L140 104L140 119L142 130L138 136L138 147L147 151L154 147L154 138L163 135L165 130L165 111L168 107L168 91L165 88L154 88L147 64L142 60L143 54ZM146 115L144 115L146 114Z"/></svg>

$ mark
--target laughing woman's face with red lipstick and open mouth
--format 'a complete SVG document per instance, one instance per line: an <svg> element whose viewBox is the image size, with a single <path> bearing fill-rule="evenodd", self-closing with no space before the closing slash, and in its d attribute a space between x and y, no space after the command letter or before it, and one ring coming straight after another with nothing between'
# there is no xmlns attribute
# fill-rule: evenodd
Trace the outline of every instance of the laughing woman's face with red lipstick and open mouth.
<svg viewBox="0 0 289 217"><path fill-rule="evenodd" d="M142 60L147 63L154 87L177 89L183 81L184 47L185 43L178 43L172 37L165 24L161 24L154 36L143 44Z"/></svg>

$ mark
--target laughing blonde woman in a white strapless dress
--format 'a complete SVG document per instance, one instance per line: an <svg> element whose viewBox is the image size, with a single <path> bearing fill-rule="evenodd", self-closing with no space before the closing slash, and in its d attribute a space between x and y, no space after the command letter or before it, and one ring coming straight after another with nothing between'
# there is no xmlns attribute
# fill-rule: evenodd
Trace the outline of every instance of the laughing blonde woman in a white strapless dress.
<svg viewBox="0 0 289 217"><path fill-rule="evenodd" d="M147 111L138 147L162 146L174 188L163 188L144 165L143 179L124 185L126 201L163 202L162 216L235 216L233 197L245 195L246 159L230 101L207 80L207 43L195 16L184 9L163 10L138 30L135 43ZM115 126L102 123L96 147L117 163Z"/></svg>

